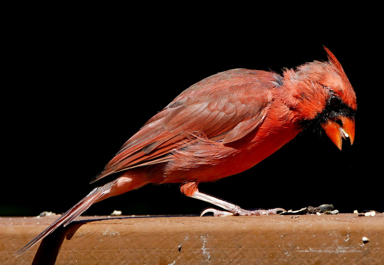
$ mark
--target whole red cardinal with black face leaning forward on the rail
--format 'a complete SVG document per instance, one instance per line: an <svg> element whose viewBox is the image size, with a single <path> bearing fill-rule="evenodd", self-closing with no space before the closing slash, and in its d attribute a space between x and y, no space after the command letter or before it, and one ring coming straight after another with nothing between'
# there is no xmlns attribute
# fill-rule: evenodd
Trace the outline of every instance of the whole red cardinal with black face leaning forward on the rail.
<svg viewBox="0 0 384 265"><path fill-rule="evenodd" d="M329 61L286 69L283 75L233 69L192 85L121 147L91 181L96 187L85 198L16 254L66 226L91 204L148 183L181 183L185 195L229 212L210 209L215 215L281 210L244 210L197 186L253 167L305 128L323 127L339 149L341 137L353 144L356 95L336 57L324 49Z"/></svg>

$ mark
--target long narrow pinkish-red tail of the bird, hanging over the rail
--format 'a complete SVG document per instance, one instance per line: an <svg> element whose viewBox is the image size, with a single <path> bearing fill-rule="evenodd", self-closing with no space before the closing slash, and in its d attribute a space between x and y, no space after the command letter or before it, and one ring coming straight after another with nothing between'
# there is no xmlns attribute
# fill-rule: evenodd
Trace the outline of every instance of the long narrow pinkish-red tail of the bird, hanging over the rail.
<svg viewBox="0 0 384 265"><path fill-rule="evenodd" d="M89 193L86 197L84 197L81 201L76 203L71 209L69 209L65 214L60 216L59 219L57 219L53 224L48 226L43 232L41 232L38 236L36 236L34 239L31 240L28 244L26 244L22 249L20 249L18 252L16 252L14 255L17 255L16 257L23 254L25 251L30 249L33 245L35 245L38 241L45 238L49 234L51 234L53 231L56 230L59 226L62 224L64 226L68 225L70 222L72 222L75 218L77 218L80 214L84 213L86 209L89 208L95 201L97 201L101 196L102 192L95 188L91 193Z"/></svg>

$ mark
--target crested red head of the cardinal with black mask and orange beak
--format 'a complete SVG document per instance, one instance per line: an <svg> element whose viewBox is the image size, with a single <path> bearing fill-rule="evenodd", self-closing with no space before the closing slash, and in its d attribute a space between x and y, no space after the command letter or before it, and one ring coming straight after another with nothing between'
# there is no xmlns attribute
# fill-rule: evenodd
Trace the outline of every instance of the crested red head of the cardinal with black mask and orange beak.
<svg viewBox="0 0 384 265"><path fill-rule="evenodd" d="M299 66L296 71L301 89L296 98L296 109L302 114L303 125L321 126L332 142L341 150L342 137L353 144L356 94L343 67L329 49L324 47L328 61L314 61ZM298 96L300 95L300 96Z"/></svg>

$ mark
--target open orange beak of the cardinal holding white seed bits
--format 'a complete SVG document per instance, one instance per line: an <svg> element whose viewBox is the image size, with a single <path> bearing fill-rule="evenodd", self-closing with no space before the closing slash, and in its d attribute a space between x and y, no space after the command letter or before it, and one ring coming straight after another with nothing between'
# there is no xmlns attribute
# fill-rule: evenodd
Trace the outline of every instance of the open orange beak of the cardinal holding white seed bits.
<svg viewBox="0 0 384 265"><path fill-rule="evenodd" d="M340 120L343 126L329 119L326 123L321 124L321 127L323 127L329 139L341 150L341 145L343 144L341 137L344 139L349 137L351 144L353 144L353 140L355 139L355 118L341 116Z"/></svg>

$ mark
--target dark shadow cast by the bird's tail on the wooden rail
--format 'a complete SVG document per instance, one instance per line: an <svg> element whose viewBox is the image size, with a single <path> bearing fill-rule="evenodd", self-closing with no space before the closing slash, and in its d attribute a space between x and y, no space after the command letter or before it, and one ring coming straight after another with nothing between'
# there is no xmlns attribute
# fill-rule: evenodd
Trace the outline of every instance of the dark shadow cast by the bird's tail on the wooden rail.
<svg viewBox="0 0 384 265"><path fill-rule="evenodd" d="M61 245L64 242L64 239L71 240L76 231L83 225L88 222L94 221L103 221L111 219L132 219L132 218L159 218L159 217L176 217L180 215L157 215L157 216L124 216L124 217L115 217L115 218L94 218L94 219L85 219L81 221L74 221L68 224L68 226L58 227L50 235L46 236L39 245L39 248L36 252L35 257L33 258L32 265L46 264L54 265L59 254ZM181 216L197 216L197 215L181 215Z"/></svg>

